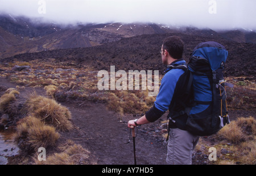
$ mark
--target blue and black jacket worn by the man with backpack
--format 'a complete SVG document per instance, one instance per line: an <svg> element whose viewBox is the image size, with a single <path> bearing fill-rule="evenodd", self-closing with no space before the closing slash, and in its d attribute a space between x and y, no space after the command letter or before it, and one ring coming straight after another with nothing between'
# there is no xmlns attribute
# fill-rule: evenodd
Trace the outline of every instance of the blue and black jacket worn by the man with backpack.
<svg viewBox="0 0 256 176"><path fill-rule="evenodd" d="M150 122L154 122L159 119L171 106L176 106L176 97L182 95L184 85L181 85L184 81L179 81L185 79L183 69L172 69L175 66L185 65L183 59L177 59L167 66L166 74L164 75L158 96L156 96L156 101L154 106L146 112L146 118ZM183 87L182 87L183 86ZM180 97L179 97L180 98ZM182 98L182 97L181 97ZM180 110L180 107L176 107Z"/></svg>

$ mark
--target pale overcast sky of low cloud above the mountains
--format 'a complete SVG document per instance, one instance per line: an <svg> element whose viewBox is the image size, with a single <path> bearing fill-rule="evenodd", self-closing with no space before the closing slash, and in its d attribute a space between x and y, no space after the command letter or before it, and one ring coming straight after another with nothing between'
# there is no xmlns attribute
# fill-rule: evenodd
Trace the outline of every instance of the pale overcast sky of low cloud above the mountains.
<svg viewBox="0 0 256 176"><path fill-rule="evenodd" d="M256 29L255 0L0 0L0 12L61 23L153 22Z"/></svg>

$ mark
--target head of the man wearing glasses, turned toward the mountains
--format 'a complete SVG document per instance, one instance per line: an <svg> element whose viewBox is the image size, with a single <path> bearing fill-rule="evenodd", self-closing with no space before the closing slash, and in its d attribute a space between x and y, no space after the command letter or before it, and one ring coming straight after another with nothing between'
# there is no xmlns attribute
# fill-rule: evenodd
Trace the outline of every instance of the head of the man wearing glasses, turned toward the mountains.
<svg viewBox="0 0 256 176"><path fill-rule="evenodd" d="M163 41L161 54L162 62L169 65L175 59L181 59L184 50L184 43L180 37L171 36Z"/></svg>

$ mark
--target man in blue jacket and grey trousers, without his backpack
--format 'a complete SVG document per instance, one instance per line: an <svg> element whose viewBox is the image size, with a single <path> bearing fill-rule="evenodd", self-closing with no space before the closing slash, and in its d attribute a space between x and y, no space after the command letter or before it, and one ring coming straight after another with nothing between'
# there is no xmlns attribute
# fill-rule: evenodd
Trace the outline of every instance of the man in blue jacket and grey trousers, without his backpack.
<svg viewBox="0 0 256 176"><path fill-rule="evenodd" d="M143 117L129 121L128 127L155 122L167 110L172 113L185 110L181 104L188 101L188 96L185 95L188 74L182 68L184 66L187 68L184 59L182 59L183 50L184 43L180 37L171 36L164 39L160 53L162 62L167 65L167 69L161 81L156 101ZM167 164L192 164L192 151L196 147L199 136L185 130L187 117L188 115L184 113L169 123Z"/></svg>

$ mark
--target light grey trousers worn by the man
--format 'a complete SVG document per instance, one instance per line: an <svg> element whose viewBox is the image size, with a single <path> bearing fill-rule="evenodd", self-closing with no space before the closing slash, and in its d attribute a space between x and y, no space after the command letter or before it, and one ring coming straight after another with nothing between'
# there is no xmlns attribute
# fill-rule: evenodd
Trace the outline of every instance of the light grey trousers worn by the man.
<svg viewBox="0 0 256 176"><path fill-rule="evenodd" d="M199 136L192 135L188 131L171 128L167 147L167 164L191 165L192 152L198 140Z"/></svg>

